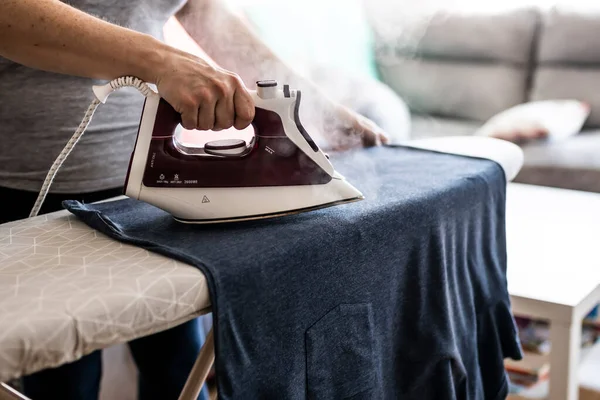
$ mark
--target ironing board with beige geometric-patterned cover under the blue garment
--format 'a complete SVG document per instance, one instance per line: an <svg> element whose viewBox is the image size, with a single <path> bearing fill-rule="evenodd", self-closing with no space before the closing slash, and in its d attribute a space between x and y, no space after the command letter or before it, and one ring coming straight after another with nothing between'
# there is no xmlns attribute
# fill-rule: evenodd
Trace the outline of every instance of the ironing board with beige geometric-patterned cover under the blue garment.
<svg viewBox="0 0 600 400"><path fill-rule="evenodd" d="M517 146L494 139L405 144L492 159L508 181L523 162ZM0 382L209 311L206 280L198 269L109 239L67 211L0 225ZM209 332L180 399L200 392L214 360L212 344ZM10 393L0 387L0 399L23 398Z"/></svg>

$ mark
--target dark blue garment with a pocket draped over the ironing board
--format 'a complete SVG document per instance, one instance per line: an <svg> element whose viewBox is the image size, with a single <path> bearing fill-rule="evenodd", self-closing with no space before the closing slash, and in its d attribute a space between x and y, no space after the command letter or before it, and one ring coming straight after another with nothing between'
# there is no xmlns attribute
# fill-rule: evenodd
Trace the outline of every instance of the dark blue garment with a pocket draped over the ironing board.
<svg viewBox="0 0 600 400"><path fill-rule="evenodd" d="M206 275L220 399L504 399L521 349L501 167L405 147L330 156L364 201L211 226L132 199L65 206Z"/></svg>

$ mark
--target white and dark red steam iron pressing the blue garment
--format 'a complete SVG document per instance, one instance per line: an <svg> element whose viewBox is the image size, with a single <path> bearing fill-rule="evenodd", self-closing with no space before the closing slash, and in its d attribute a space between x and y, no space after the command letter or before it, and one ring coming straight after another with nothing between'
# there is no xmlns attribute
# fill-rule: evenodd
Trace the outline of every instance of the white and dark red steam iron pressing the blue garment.
<svg viewBox="0 0 600 400"><path fill-rule="evenodd" d="M184 223L272 218L363 199L302 126L299 90L259 81L251 95L253 138L198 148L178 140L180 114L148 93L125 195Z"/></svg>

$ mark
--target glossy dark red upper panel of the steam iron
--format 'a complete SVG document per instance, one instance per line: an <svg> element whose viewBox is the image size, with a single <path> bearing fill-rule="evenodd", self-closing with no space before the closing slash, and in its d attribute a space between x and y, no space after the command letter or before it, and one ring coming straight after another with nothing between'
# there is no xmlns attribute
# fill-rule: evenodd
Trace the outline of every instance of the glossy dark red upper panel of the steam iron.
<svg viewBox="0 0 600 400"><path fill-rule="evenodd" d="M182 153L174 141L180 123L180 114L161 99L144 171L145 186L257 187L316 185L331 180L285 135L281 118L273 111L256 109L252 121L255 138L242 156Z"/></svg>

